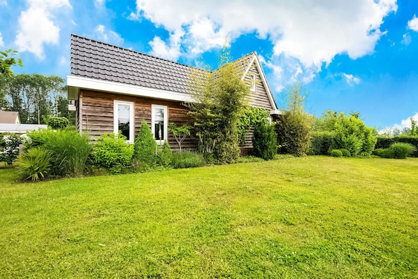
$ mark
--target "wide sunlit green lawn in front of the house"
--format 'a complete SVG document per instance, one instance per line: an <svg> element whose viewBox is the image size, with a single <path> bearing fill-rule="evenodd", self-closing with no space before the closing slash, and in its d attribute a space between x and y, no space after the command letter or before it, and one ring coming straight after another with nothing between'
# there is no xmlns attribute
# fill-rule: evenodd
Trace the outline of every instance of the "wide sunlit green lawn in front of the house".
<svg viewBox="0 0 418 279"><path fill-rule="evenodd" d="M0 278L418 278L418 159L16 177Z"/></svg>

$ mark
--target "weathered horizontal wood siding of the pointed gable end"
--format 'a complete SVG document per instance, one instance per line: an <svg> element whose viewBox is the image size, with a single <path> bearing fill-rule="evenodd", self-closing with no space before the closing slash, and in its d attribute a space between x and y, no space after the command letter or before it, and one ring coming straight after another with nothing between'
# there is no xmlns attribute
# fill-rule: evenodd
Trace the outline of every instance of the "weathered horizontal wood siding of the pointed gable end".
<svg viewBox="0 0 418 279"><path fill-rule="evenodd" d="M249 97L250 105L256 108L265 108L269 111L273 110L270 99L268 99L266 85L264 85L257 66L254 63L251 65L250 70L244 78L245 83L249 86L251 85L252 75L256 76L256 86L255 90L251 92Z"/></svg>

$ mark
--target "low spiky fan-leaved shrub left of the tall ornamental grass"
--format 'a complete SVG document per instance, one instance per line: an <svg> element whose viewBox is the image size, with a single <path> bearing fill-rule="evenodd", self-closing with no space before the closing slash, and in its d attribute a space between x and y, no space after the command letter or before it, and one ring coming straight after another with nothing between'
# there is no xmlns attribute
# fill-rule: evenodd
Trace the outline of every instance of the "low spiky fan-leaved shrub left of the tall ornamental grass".
<svg viewBox="0 0 418 279"><path fill-rule="evenodd" d="M20 166L22 180L41 180L50 170L51 152L43 148L31 148L20 155L17 164Z"/></svg>

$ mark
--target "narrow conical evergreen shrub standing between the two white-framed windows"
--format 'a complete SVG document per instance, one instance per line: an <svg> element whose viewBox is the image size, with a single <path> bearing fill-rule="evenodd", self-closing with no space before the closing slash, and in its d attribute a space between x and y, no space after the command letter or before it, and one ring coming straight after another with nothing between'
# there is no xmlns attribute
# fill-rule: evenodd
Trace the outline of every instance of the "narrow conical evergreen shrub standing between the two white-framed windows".
<svg viewBox="0 0 418 279"><path fill-rule="evenodd" d="M134 143L134 158L154 166L157 160L157 143L147 122L140 124L140 131Z"/></svg>

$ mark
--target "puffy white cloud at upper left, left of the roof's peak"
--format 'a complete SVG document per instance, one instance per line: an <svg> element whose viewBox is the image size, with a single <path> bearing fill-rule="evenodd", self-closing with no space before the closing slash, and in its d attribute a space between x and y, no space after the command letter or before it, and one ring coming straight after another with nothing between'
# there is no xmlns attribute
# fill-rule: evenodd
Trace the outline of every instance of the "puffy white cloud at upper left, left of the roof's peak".
<svg viewBox="0 0 418 279"><path fill-rule="evenodd" d="M29 51L43 59L43 45L59 41L59 27L53 21L53 13L71 5L68 0L28 0L28 3L29 8L20 13L15 45L19 51Z"/></svg>

